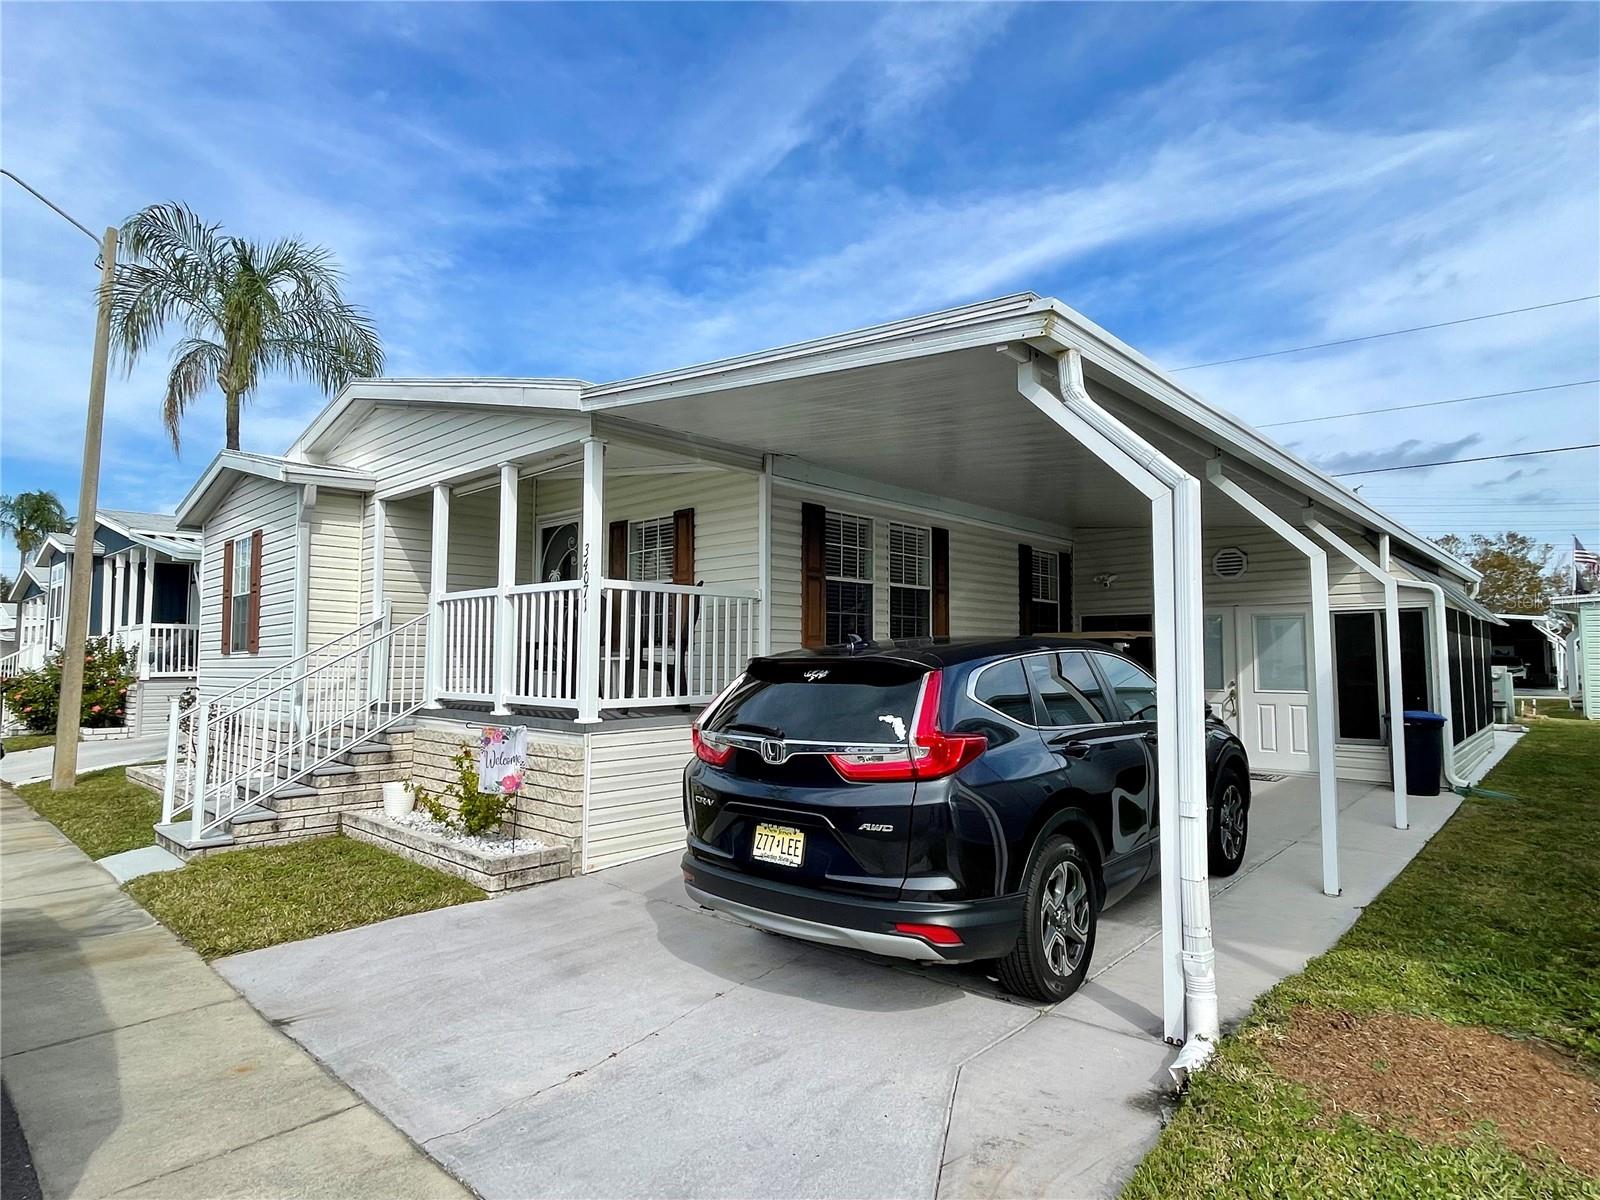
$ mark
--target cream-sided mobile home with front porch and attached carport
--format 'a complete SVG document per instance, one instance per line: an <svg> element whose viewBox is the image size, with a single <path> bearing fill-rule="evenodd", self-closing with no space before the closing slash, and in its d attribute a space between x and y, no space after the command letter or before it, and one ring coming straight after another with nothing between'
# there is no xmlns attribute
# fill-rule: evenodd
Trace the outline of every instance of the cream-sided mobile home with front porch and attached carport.
<svg viewBox="0 0 1600 1200"><path fill-rule="evenodd" d="M1446 717L1450 784L1491 746L1470 568L1034 294L598 386L354 382L178 518L208 701L179 850L387 726L438 787L485 722L534 728L518 819L582 869L675 848L693 715L850 635L1115 634L1328 819L1336 778L1403 778L1400 709Z"/></svg>

